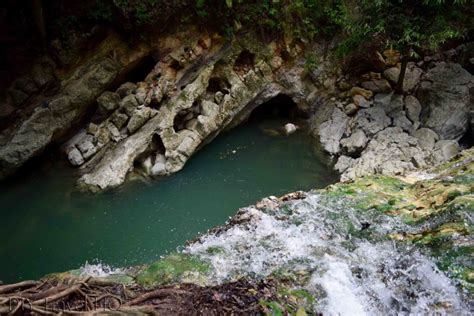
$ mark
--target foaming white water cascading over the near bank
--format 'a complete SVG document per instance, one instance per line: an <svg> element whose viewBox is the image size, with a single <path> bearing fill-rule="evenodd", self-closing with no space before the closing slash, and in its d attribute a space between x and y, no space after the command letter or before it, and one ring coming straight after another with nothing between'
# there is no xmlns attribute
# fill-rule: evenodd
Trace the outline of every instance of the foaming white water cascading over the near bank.
<svg viewBox="0 0 474 316"><path fill-rule="evenodd" d="M414 246L387 234L413 227L341 198L310 192L276 208L249 207L247 219L211 233L184 251L209 261L216 283L277 271L307 275L301 286L314 309L330 315L463 313L453 281Z"/></svg>

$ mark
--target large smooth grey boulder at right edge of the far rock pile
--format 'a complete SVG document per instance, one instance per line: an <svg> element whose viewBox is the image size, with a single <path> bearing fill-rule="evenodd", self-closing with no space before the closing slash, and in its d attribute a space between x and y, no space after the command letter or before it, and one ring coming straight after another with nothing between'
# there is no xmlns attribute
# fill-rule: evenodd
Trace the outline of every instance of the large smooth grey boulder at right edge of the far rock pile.
<svg viewBox="0 0 474 316"><path fill-rule="evenodd" d="M459 64L442 63L423 76L419 100L422 123L441 139L459 140L467 131L474 77Z"/></svg>

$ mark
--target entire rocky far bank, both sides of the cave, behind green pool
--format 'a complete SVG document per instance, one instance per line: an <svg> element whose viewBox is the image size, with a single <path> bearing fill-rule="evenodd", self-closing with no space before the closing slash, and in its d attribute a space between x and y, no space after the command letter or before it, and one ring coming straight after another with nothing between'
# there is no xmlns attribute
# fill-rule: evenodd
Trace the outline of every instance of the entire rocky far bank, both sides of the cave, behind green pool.
<svg viewBox="0 0 474 316"><path fill-rule="evenodd" d="M396 94L400 56L392 50L368 52L373 71L351 76L324 41L267 43L252 32L226 39L189 27L130 43L96 30L78 37L76 51L39 60L8 90L0 177L50 144L62 144L90 191L119 186L132 171L169 175L279 94L312 116L342 180L402 175L470 142L474 79L455 63L464 46L410 63Z"/></svg>

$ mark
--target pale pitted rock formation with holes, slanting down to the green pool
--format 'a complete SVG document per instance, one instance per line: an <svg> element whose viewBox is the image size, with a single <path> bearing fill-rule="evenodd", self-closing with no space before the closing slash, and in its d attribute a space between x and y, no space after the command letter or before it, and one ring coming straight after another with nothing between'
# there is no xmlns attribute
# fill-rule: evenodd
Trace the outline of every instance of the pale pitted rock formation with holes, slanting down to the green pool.
<svg viewBox="0 0 474 316"><path fill-rule="evenodd" d="M257 106L280 93L291 97L300 111L308 111L315 102L315 96L307 93L315 89L314 84L305 81L302 64L271 62L275 60L272 46L251 39L210 41L202 33L170 38L169 43L170 53L143 82L126 83L116 91L119 107L98 125L99 130L109 131L109 140L99 142L94 134L100 155L84 157L81 187L94 192L116 187L134 168L151 176L177 172L200 147L244 122ZM290 56L299 58L299 54ZM348 120L340 110L334 114L337 126L328 124L327 135L339 136L329 146L339 147ZM294 132L296 126L286 129ZM78 148L77 142L72 145Z"/></svg>

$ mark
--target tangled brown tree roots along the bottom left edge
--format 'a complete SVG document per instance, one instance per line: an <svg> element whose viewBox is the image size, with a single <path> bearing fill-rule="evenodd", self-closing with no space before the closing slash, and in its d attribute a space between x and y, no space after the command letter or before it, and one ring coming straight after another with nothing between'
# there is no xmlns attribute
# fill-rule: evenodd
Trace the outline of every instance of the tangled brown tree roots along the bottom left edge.
<svg viewBox="0 0 474 316"><path fill-rule="evenodd" d="M256 314L276 300L276 285L240 280L213 287L180 284L145 289L99 278L24 281L1 287L0 314Z"/></svg>

